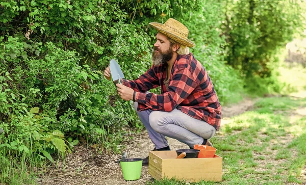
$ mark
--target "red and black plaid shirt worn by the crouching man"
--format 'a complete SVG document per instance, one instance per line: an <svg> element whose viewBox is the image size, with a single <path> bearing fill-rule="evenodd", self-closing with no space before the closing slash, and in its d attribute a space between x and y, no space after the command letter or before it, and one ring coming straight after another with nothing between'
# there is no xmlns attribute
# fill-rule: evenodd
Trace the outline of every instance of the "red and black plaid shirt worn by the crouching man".
<svg viewBox="0 0 306 185"><path fill-rule="evenodd" d="M151 109L171 112L179 109L219 130L221 104L207 71L192 54L177 56L171 69L168 91L164 84L165 78L166 66L152 65L136 80L123 80L124 86L136 91L137 111ZM162 94L145 94L159 86Z"/></svg>

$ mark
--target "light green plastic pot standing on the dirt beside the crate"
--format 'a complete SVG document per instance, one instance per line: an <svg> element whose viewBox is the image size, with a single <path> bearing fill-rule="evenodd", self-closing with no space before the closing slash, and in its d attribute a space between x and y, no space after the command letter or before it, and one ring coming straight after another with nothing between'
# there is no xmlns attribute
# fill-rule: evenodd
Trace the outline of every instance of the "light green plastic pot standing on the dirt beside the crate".
<svg viewBox="0 0 306 185"><path fill-rule="evenodd" d="M126 158L120 161L123 178L137 180L141 176L142 158Z"/></svg>

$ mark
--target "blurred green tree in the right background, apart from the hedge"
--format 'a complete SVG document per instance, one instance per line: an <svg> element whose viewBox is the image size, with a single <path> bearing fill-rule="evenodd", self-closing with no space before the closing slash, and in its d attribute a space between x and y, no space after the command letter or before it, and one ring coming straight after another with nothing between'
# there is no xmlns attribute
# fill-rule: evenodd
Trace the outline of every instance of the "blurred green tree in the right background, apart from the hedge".
<svg viewBox="0 0 306 185"><path fill-rule="evenodd" d="M225 20L221 28L227 42L227 64L241 71L246 86L253 86L247 87L255 90L252 93L270 93L267 88L276 88L275 92L279 92L276 86L283 85L272 76L278 67L275 55L295 33L303 32L305 19L302 12L306 4L286 0L228 0L223 2L223 6ZM253 82L249 83L253 76ZM267 84L254 84L265 82ZM267 87L270 85L273 87Z"/></svg>

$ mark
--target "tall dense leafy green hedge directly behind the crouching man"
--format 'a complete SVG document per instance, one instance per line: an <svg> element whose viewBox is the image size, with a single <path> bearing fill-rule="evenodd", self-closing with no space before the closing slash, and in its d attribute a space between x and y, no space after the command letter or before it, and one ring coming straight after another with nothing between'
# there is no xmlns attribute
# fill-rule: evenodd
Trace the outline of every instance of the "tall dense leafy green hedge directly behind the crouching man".
<svg viewBox="0 0 306 185"><path fill-rule="evenodd" d="M222 20L216 16L218 3L7 1L1 5L2 71L12 78L7 84L16 97L25 97L20 101L24 109L38 107L38 115L48 117L48 129L60 130L67 137L110 148L123 139L124 129L123 133L119 129L123 125L141 127L130 102L118 98L100 71L115 58L126 78L142 74L151 65L156 35L148 26L151 21L175 17L189 27L190 38L197 43L192 52L211 74L221 102L231 101L241 90L237 72L223 62L220 46L224 38L216 29ZM190 8L193 14L188 13ZM19 103L3 102L8 106ZM3 122L10 123L12 112L22 115L22 110L3 110L8 115Z"/></svg>

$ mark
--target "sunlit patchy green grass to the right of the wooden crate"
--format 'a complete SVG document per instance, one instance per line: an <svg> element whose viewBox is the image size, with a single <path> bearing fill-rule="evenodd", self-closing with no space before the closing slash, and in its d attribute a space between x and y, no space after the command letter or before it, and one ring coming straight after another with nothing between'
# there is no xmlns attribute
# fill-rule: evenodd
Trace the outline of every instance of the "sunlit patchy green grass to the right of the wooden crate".
<svg viewBox="0 0 306 185"><path fill-rule="evenodd" d="M186 183L164 178L147 184L301 183L300 173L306 164L306 116L294 111L305 105L306 98L262 98L252 111L222 125L211 139L223 157L221 182Z"/></svg>

